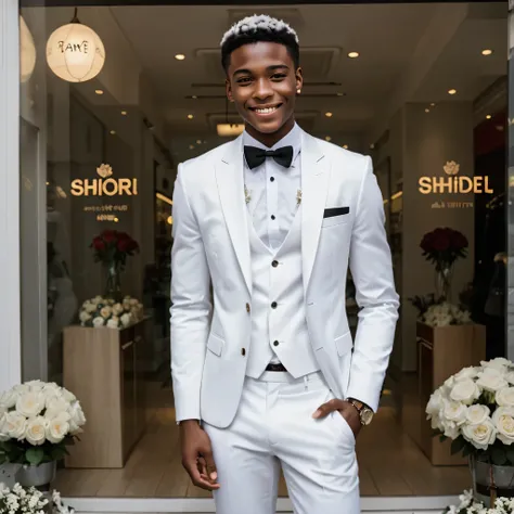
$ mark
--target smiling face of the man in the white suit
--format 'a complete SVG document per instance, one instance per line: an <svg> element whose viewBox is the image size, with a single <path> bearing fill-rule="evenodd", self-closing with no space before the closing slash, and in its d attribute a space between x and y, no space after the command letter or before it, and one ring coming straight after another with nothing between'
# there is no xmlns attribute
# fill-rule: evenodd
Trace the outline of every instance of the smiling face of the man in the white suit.
<svg viewBox="0 0 514 514"><path fill-rule="evenodd" d="M254 137L275 139L272 134L293 128L296 91L301 83L301 69L295 69L283 44L248 43L230 56L227 95Z"/></svg>

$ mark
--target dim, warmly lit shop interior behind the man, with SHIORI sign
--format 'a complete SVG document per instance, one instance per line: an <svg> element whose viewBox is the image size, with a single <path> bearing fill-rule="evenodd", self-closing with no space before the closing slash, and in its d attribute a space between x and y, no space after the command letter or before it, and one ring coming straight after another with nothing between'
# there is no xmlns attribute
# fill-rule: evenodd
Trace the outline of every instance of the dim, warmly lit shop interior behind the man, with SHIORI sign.
<svg viewBox="0 0 514 514"><path fill-rule="evenodd" d="M210 496L181 466L175 423L172 192L179 163L243 130L226 100L218 44L254 11L21 9L23 378L69 388L87 417L81 441L59 467L63 496ZM460 493L470 487L466 462L432 438L424 409L451 367L505 352L502 296L491 299L506 252L504 3L262 12L291 23L300 38L298 125L371 155L384 197L401 309L381 407L357 444L361 493ZM97 36L83 29L99 49L83 81L75 80L73 60L50 51L52 37L65 39L66 29L55 31L72 21ZM434 185L448 177L481 179L453 192ZM420 244L446 227L468 242L451 278L453 304L473 320L461 346L436 344L435 330L428 334L419 319L420 303L440 287ZM125 255L114 271L102 260L108 239ZM94 299L110 294L121 307L100 326ZM349 278L352 329L354 294ZM280 496L287 496L283 480Z"/></svg>

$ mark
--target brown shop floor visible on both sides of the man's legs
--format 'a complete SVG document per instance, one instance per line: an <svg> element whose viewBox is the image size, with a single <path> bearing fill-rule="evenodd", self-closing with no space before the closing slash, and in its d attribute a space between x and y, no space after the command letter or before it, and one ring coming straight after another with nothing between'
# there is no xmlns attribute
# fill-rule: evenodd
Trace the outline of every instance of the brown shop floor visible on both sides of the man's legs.
<svg viewBox="0 0 514 514"><path fill-rule="evenodd" d="M123 470L61 470L55 488L66 497L206 498L181 466L169 389L154 390L160 406ZM402 431L385 401L357 445L362 496L455 494L471 486L465 466L434 467ZM279 494L287 496L282 479Z"/></svg>

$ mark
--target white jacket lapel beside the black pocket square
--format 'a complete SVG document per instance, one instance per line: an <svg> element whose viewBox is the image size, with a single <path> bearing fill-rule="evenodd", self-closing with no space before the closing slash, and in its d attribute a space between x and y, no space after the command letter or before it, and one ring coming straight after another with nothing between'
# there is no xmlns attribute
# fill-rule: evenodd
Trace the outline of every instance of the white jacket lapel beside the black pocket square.
<svg viewBox="0 0 514 514"><path fill-rule="evenodd" d="M301 260L304 291L310 283L330 182L330 162L312 136L301 141Z"/></svg>

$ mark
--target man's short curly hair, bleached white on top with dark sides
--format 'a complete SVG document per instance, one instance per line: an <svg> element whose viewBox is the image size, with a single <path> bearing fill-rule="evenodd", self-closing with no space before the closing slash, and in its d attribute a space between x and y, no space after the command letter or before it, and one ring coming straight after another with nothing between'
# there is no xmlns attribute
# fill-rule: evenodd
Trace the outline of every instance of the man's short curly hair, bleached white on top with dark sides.
<svg viewBox="0 0 514 514"><path fill-rule="evenodd" d="M228 72L230 55L244 44L260 41L283 44L295 68L299 66L299 44L296 33L284 22L261 15L249 16L235 24L221 40L221 65Z"/></svg>

